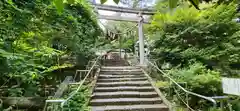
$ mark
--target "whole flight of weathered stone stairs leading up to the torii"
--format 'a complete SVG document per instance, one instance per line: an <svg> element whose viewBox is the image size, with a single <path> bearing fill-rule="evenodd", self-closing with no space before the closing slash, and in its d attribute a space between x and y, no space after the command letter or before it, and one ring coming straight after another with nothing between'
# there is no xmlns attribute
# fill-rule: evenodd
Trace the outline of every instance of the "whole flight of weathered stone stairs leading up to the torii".
<svg viewBox="0 0 240 111"><path fill-rule="evenodd" d="M169 111L139 67L116 64L101 68L90 106L92 111Z"/></svg>

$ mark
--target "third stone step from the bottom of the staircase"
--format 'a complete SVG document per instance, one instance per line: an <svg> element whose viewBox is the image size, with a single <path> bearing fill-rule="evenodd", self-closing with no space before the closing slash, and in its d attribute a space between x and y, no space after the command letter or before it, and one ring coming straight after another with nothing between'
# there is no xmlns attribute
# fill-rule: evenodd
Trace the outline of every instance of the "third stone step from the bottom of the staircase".
<svg viewBox="0 0 240 111"><path fill-rule="evenodd" d="M156 92L118 91L118 92L95 92L93 99L104 98L153 98L158 97Z"/></svg>

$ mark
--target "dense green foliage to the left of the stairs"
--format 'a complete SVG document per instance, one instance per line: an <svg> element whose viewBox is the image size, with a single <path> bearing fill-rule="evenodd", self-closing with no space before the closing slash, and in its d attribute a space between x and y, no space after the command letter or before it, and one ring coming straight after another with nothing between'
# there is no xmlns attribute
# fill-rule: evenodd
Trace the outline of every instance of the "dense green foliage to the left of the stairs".
<svg viewBox="0 0 240 111"><path fill-rule="evenodd" d="M0 1L1 96L45 96L43 85L59 81L53 71L91 57L100 34L87 2L59 13L49 0Z"/></svg>

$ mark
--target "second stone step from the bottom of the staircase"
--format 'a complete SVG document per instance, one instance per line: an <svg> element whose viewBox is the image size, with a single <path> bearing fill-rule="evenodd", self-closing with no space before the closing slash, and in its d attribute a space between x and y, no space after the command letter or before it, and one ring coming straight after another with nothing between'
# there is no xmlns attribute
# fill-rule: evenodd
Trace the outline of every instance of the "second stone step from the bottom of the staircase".
<svg viewBox="0 0 240 111"><path fill-rule="evenodd" d="M92 99L92 106L106 105L136 105L136 104L161 104L162 100L157 98L111 98L111 99Z"/></svg>

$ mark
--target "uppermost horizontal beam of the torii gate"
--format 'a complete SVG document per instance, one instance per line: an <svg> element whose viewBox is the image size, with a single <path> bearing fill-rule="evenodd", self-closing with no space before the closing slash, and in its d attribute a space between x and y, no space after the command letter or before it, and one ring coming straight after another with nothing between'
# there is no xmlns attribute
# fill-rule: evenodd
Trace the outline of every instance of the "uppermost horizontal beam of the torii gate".
<svg viewBox="0 0 240 111"><path fill-rule="evenodd" d="M122 12L122 13L133 13L142 15L154 15L156 13L155 10L152 9L133 9L127 7L117 7L117 6L110 6L110 5L100 5L95 4L98 10L107 10L107 11L115 11L115 12Z"/></svg>

